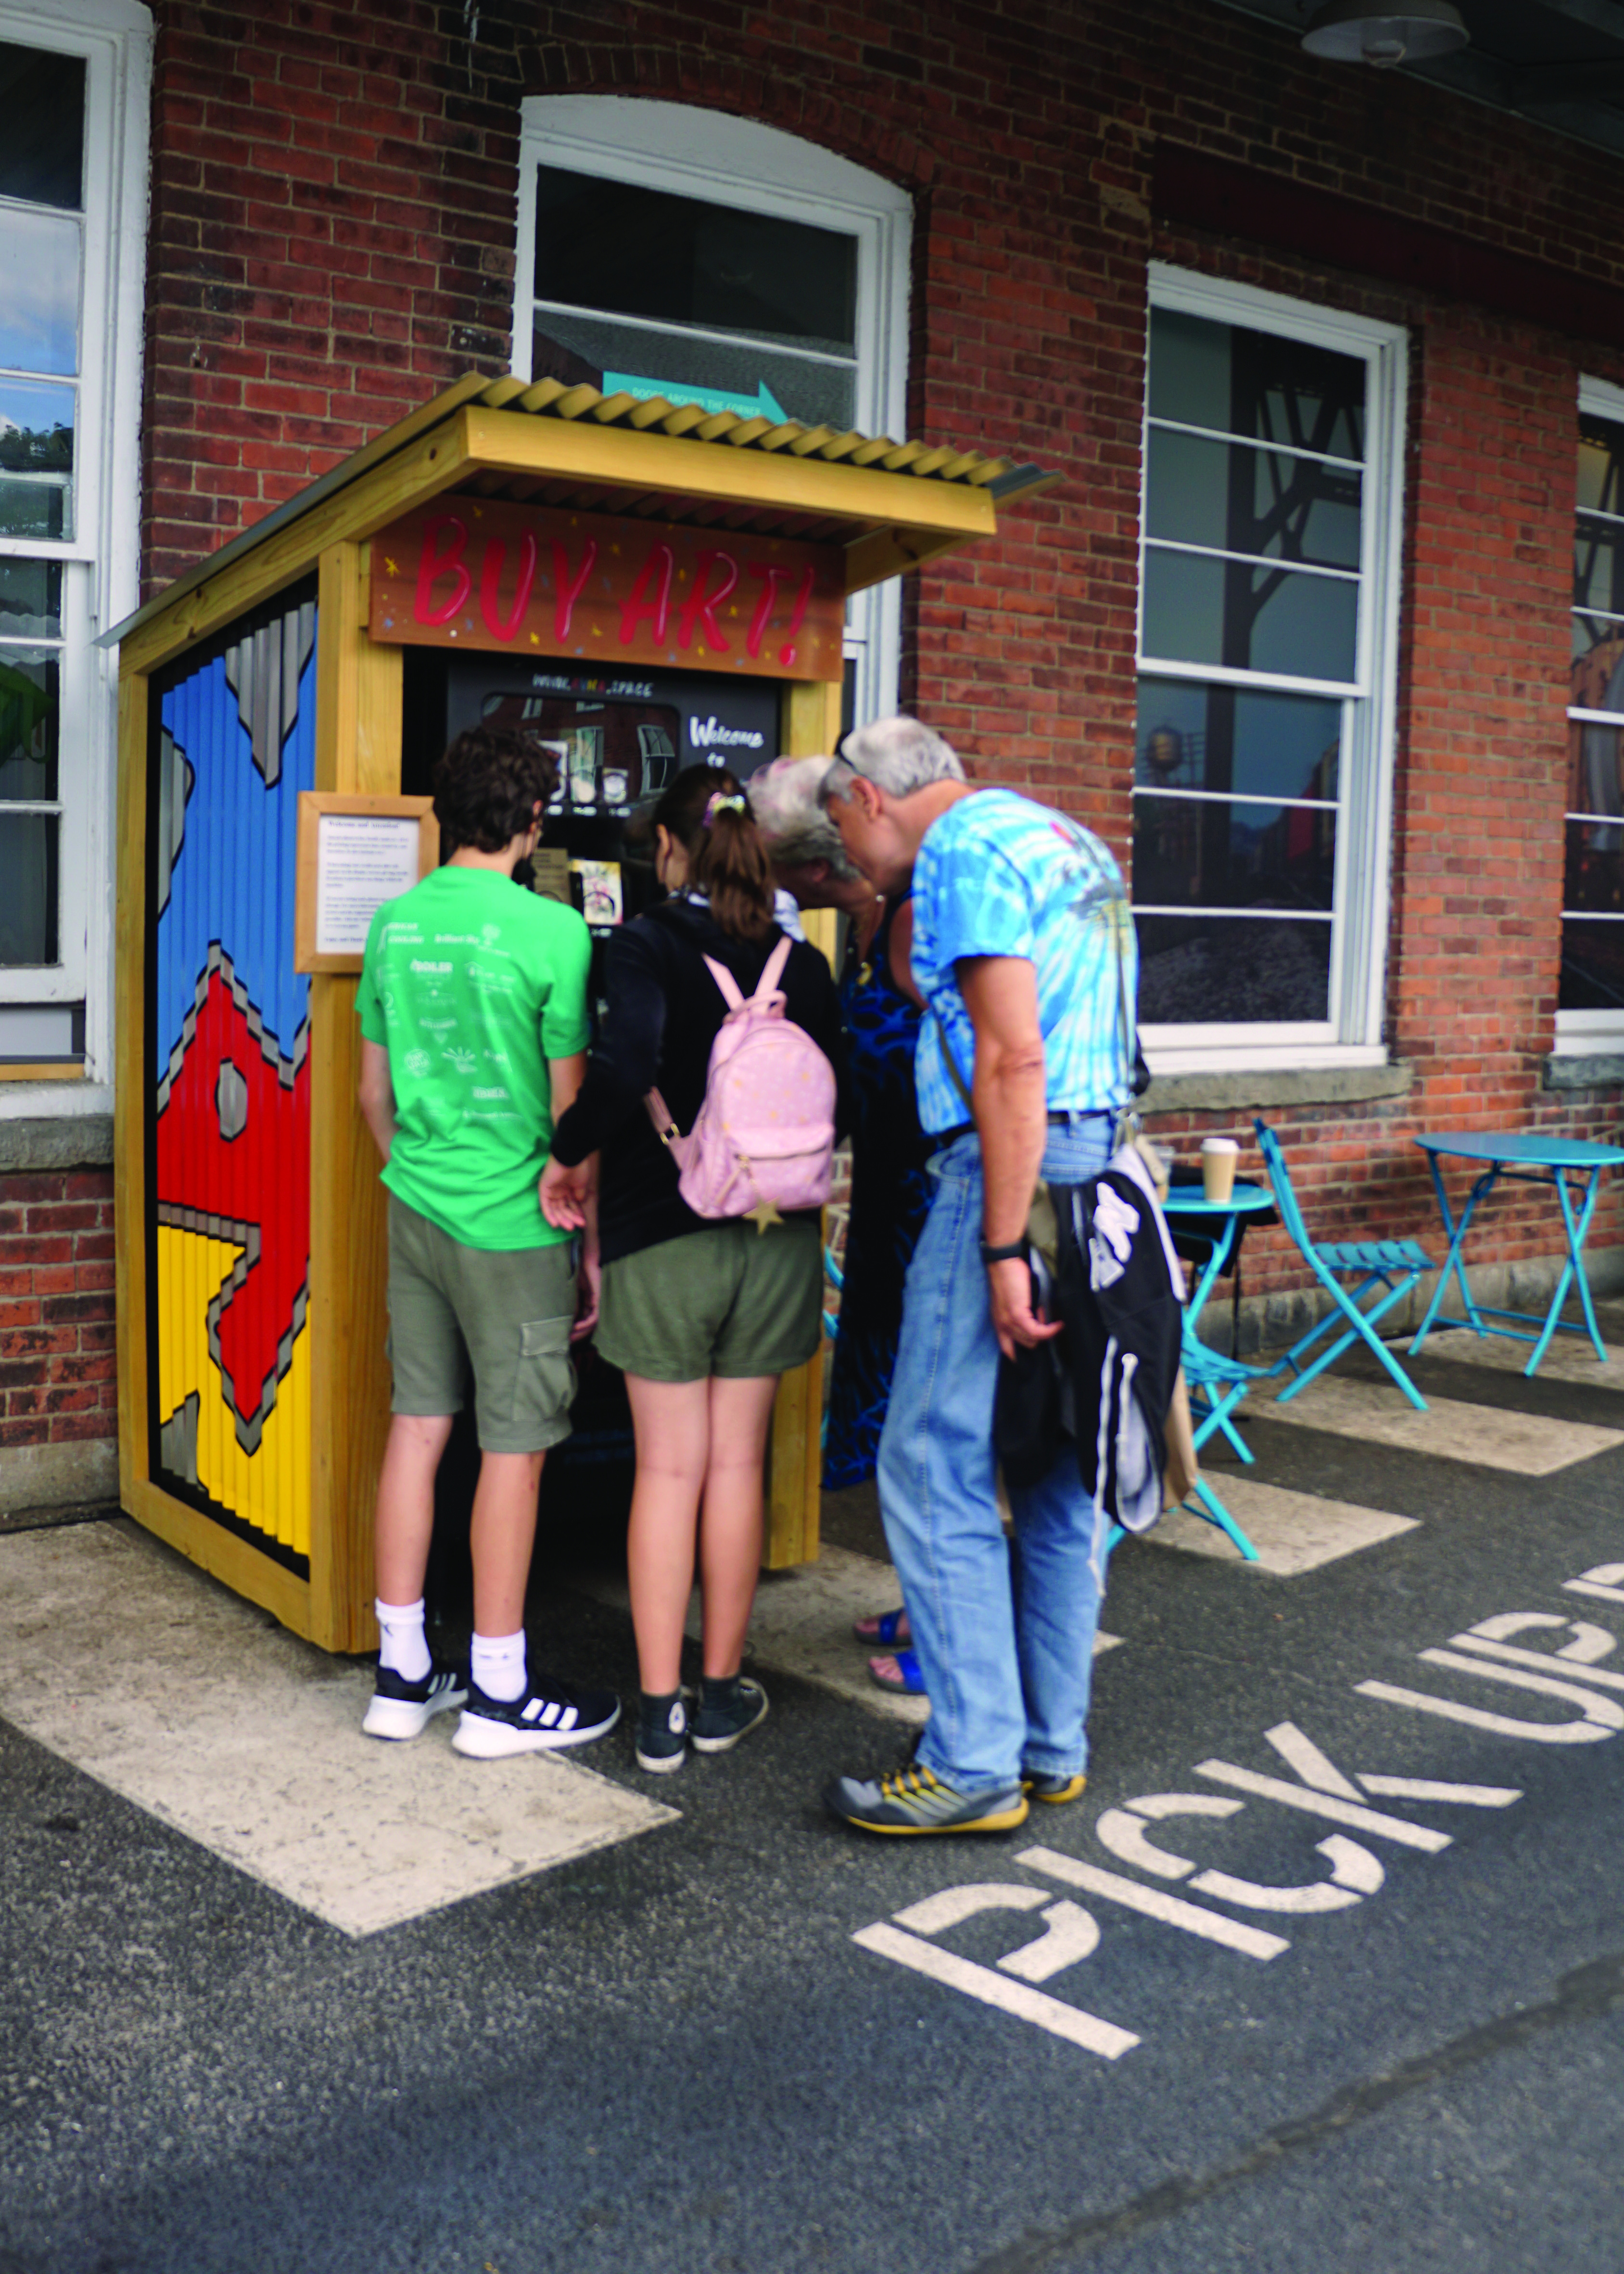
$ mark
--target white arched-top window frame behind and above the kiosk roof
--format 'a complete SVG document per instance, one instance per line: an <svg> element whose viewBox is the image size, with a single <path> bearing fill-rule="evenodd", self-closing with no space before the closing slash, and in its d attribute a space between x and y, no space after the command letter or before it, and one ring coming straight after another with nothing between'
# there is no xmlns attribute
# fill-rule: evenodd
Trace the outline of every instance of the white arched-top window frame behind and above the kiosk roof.
<svg viewBox="0 0 1624 2274"><path fill-rule="evenodd" d="M857 389L853 425L894 434L908 418L908 277L914 209L905 189L778 127L639 96L528 96L519 157L514 375L532 377L537 166L703 198L857 239ZM846 657L857 721L896 709L901 578L853 594Z"/></svg>

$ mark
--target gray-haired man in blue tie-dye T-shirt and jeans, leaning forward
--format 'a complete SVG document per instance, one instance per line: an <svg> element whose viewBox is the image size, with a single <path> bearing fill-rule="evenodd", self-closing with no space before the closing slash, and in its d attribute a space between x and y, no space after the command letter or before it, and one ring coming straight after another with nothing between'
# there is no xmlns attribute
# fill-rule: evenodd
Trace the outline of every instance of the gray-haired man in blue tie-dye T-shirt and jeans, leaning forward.
<svg viewBox="0 0 1624 2274"><path fill-rule="evenodd" d="M1033 1312L1035 1182L1103 1169L1128 1103L1119 1001L1135 989L1133 923L1089 830L1014 791L971 789L914 719L846 737L823 800L880 891L912 875L928 1005L919 1119L939 1146L880 1437L880 1510L930 1721L910 1767L842 1776L826 1799L862 1831L1008 1831L1028 1796L1083 1790L1105 1524L1067 1453L1010 1494L1012 1578L992 1401L999 1353L1060 1333Z"/></svg>

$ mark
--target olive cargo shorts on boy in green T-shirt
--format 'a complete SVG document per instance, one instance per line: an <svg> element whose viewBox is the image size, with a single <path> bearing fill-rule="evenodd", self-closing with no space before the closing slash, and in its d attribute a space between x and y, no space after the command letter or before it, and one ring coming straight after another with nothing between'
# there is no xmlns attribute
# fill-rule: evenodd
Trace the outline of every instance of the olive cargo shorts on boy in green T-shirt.
<svg viewBox="0 0 1624 2274"><path fill-rule="evenodd" d="M459 1414L473 1369L482 1453L569 1437L575 1251L464 1248L389 1194L389 1364L398 1414Z"/></svg>

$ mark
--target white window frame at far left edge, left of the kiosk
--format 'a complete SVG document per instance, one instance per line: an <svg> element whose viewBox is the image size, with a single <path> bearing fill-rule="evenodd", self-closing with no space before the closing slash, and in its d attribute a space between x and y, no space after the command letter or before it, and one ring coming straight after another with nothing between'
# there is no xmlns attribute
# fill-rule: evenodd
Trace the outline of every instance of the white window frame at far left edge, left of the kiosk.
<svg viewBox="0 0 1624 2274"><path fill-rule="evenodd" d="M141 557L141 355L148 214L152 14L139 0L0 0L0 41L86 64L84 255L73 446L73 541L0 537L0 553L61 562L61 760L57 803L57 964L0 971L7 1005L84 1003L84 1076L0 1082L0 1119L91 1114L111 1105L114 775L118 657L93 646L136 607ZM48 1103L45 1103L48 1101Z"/></svg>

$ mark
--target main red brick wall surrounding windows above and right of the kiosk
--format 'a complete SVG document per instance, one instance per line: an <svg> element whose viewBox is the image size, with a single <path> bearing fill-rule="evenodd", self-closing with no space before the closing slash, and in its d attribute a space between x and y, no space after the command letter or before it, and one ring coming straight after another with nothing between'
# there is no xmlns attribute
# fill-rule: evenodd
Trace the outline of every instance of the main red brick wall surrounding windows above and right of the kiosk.
<svg viewBox="0 0 1624 2274"><path fill-rule="evenodd" d="M1408 1098L1278 1121L1315 1228L1435 1235L1410 1135L1613 1135L1551 1096L1579 368L1619 357L1262 246L1155 225L1158 139L1624 284L1615 159L1437 86L1326 66L1190 0L157 0L148 582L450 375L507 359L521 93L646 93L807 136L914 193L910 430L1064 480L917 580L905 687L985 773L1126 853L1146 262L1412 337L1387 1035ZM1233 1117L1185 1117L1199 1137ZM1249 1117L1240 1135L1249 1137ZM1549 1196L1497 1203L1551 1253ZM1592 1242L1624 1237L1617 1189ZM1301 1278L1278 1239L1253 1285Z"/></svg>

